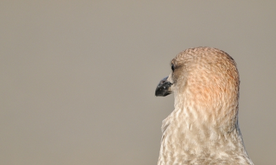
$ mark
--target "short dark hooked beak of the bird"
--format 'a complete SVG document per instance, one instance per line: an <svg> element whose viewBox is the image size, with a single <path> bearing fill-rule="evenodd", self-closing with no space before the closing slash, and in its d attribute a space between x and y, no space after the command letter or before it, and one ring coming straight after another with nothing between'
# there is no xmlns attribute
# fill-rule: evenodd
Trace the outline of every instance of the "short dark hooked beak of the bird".
<svg viewBox="0 0 276 165"><path fill-rule="evenodd" d="M158 86L155 90L155 96L166 96L170 95L172 93L172 90L170 90L170 86L172 86L172 83L168 81L168 77L165 77L164 79L161 79Z"/></svg>

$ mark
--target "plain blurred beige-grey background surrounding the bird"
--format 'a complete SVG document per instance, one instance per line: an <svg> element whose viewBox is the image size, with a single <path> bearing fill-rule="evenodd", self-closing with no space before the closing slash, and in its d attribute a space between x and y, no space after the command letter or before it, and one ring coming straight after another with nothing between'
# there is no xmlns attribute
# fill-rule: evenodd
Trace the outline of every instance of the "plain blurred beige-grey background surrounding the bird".
<svg viewBox="0 0 276 165"><path fill-rule="evenodd" d="M211 46L237 62L239 123L276 162L275 1L1 1L0 164L157 164L170 60Z"/></svg>

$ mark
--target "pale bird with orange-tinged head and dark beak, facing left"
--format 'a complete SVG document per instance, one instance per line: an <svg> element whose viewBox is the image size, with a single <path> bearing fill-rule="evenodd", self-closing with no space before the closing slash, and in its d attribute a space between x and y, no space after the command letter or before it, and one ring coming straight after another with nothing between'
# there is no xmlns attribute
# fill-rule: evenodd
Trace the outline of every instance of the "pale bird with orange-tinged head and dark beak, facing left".
<svg viewBox="0 0 276 165"><path fill-rule="evenodd" d="M217 48L188 48L170 61L155 96L175 95L163 120L158 165L250 164L239 129L239 72Z"/></svg>

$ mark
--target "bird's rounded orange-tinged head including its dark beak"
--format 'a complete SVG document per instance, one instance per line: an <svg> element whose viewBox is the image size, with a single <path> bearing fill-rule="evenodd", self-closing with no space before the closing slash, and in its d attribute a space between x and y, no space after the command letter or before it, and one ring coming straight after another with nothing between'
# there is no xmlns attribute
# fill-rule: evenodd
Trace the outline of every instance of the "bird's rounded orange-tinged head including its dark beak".
<svg viewBox="0 0 276 165"><path fill-rule="evenodd" d="M226 52L190 48L180 52L170 64L170 75L161 79L156 96L175 93L175 106L201 111L205 119L237 113L239 73L234 59Z"/></svg>

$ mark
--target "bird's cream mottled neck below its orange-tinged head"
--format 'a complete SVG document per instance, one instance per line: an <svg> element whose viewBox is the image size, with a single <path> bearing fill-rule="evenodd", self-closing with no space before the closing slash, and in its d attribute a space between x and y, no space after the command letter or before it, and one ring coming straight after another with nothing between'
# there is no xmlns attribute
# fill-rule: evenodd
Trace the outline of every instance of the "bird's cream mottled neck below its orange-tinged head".
<svg viewBox="0 0 276 165"><path fill-rule="evenodd" d="M162 124L162 152L181 154L187 160L205 159L205 163L233 157L246 162L240 164L249 164L237 119L234 123L217 123L201 118L198 113L200 110L175 107Z"/></svg>

